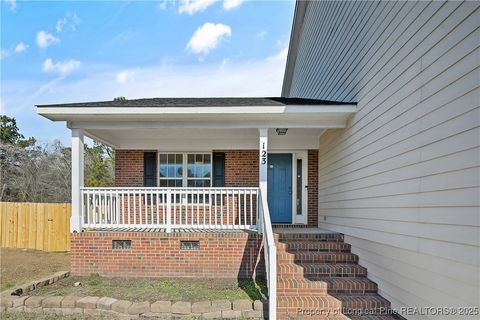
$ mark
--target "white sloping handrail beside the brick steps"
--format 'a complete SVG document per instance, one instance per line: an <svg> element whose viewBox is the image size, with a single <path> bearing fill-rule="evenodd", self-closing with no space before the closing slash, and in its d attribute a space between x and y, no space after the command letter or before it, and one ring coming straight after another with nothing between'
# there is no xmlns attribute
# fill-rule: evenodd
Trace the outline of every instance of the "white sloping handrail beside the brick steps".
<svg viewBox="0 0 480 320"><path fill-rule="evenodd" d="M277 319L277 248L273 236L272 222L267 203L267 184L260 182L258 193L258 230L263 235L263 253L268 286L268 315L269 319Z"/></svg>

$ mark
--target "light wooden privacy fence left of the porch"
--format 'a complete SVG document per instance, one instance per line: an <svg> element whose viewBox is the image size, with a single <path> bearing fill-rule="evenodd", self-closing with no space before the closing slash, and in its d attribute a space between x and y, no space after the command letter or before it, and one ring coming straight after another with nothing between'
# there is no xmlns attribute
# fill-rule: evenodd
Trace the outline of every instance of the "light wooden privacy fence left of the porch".
<svg viewBox="0 0 480 320"><path fill-rule="evenodd" d="M69 203L0 202L2 247L70 250Z"/></svg>

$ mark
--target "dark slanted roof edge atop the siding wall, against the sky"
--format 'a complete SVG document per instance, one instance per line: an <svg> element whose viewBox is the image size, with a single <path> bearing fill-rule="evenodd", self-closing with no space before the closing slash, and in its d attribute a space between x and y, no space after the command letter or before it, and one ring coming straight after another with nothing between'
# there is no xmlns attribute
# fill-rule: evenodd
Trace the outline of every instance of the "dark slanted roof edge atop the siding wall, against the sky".
<svg viewBox="0 0 480 320"><path fill-rule="evenodd" d="M308 1L297 0L295 3L295 12L293 14L292 31L290 33L290 43L288 46L287 64L283 76L282 97L290 96L292 85L293 70L297 62L298 44L300 42L300 33L303 29L303 21L307 9Z"/></svg>

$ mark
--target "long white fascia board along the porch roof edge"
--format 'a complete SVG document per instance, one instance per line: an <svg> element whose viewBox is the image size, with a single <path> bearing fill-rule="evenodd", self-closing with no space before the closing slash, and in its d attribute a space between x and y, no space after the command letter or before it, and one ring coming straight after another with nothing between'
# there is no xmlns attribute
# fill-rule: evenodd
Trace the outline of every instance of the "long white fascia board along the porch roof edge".
<svg viewBox="0 0 480 320"><path fill-rule="evenodd" d="M249 107L37 107L37 113L47 118L86 115L195 115L195 114L293 114L293 113L354 113L355 104L288 105Z"/></svg>

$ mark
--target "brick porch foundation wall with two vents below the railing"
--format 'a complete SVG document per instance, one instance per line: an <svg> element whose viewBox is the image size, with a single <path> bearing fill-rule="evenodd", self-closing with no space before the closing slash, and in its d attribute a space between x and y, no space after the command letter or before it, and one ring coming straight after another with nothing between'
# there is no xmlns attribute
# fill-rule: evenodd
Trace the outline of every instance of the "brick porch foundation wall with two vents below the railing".
<svg viewBox="0 0 480 320"><path fill-rule="evenodd" d="M131 240L131 250L112 249ZM180 241L200 241L180 250ZM251 278L262 276L261 236L254 232L83 232L71 238L72 275Z"/></svg>

